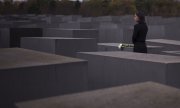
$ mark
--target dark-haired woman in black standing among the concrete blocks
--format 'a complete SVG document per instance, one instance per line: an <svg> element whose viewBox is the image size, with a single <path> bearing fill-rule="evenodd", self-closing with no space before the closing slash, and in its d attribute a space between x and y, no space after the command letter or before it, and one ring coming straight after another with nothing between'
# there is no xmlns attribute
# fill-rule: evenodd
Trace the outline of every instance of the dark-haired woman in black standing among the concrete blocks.
<svg viewBox="0 0 180 108"><path fill-rule="evenodd" d="M145 22L145 15L142 12L137 12L134 15L134 20L137 22L134 25L132 42L134 44L134 52L147 53L146 35L148 27Z"/></svg>

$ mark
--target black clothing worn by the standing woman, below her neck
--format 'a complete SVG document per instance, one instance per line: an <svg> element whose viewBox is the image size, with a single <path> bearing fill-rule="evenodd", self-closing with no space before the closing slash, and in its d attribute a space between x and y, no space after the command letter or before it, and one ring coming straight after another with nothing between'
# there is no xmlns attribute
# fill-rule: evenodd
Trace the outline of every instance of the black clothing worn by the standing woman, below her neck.
<svg viewBox="0 0 180 108"><path fill-rule="evenodd" d="M132 42L134 44L134 52L147 53L146 35L148 27L145 22L139 22L134 26Z"/></svg>

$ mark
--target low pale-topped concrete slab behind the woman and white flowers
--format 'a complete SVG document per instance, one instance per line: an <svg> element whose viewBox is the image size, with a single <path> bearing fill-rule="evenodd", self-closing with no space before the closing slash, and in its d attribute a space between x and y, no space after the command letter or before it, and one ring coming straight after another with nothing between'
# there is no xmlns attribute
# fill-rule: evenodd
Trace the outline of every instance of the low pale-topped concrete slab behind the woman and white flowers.
<svg viewBox="0 0 180 108"><path fill-rule="evenodd" d="M98 51L129 51L129 52L133 52L133 47L127 47L127 48L123 48L123 49L119 49L120 43L98 43ZM148 53L151 54L160 54L162 51L162 46L151 46L148 45L147 49L148 49Z"/></svg>

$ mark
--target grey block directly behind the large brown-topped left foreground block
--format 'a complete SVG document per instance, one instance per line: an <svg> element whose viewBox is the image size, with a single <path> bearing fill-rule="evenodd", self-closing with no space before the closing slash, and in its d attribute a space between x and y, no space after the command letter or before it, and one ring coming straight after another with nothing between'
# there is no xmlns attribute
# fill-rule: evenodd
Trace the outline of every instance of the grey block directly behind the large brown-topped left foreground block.
<svg viewBox="0 0 180 108"><path fill-rule="evenodd" d="M77 52L97 51L97 40L92 38L25 37L21 48L76 57Z"/></svg>

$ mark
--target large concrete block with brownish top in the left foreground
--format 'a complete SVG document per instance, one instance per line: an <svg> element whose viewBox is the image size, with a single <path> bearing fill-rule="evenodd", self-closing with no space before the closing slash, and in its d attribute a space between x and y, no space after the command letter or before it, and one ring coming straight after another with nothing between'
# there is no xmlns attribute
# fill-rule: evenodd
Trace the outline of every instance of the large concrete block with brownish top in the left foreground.
<svg viewBox="0 0 180 108"><path fill-rule="evenodd" d="M32 50L0 49L0 107L87 90L87 61Z"/></svg>

